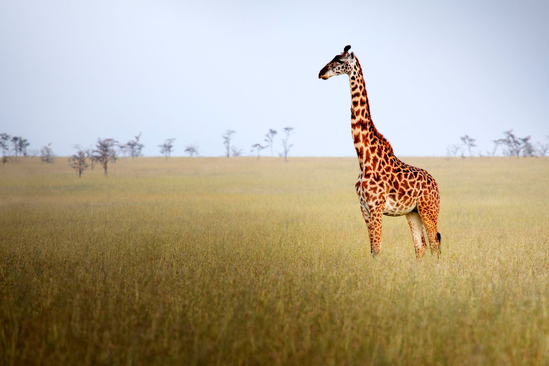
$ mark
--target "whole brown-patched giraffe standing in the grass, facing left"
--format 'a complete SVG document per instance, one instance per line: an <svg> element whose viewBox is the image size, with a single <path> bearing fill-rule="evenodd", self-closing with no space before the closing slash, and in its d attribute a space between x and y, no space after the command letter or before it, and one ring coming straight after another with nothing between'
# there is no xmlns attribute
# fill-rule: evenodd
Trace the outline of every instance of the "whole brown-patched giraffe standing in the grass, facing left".
<svg viewBox="0 0 549 366"><path fill-rule="evenodd" d="M362 68L351 46L335 56L318 73L328 80L334 75L349 75L351 87L351 132L360 173L355 184L362 216L366 221L372 255L381 252L382 216L405 215L412 231L416 257L427 249L423 230L427 232L431 252L440 254L439 187L427 171L400 161L391 144L372 122Z"/></svg>

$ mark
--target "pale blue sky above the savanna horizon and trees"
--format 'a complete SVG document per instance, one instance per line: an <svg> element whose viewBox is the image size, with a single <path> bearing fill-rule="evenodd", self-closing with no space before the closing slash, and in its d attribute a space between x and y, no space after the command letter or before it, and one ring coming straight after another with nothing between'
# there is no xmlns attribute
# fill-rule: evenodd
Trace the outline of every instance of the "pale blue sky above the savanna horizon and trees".
<svg viewBox="0 0 549 366"><path fill-rule="evenodd" d="M397 155L549 134L549 2L0 2L0 132L72 154L143 133L145 155L262 142L295 127L294 156L353 156L346 44ZM275 140L279 149L280 134ZM267 151L267 150L265 150Z"/></svg>

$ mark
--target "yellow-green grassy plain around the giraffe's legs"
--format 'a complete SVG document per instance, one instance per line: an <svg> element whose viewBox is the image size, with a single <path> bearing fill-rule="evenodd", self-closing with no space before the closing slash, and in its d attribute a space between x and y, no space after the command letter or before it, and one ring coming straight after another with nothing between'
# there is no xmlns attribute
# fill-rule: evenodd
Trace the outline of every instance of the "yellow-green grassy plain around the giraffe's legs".
<svg viewBox="0 0 549 366"><path fill-rule="evenodd" d="M439 182L442 255L353 158L0 167L0 364L548 365L549 158L405 158Z"/></svg>

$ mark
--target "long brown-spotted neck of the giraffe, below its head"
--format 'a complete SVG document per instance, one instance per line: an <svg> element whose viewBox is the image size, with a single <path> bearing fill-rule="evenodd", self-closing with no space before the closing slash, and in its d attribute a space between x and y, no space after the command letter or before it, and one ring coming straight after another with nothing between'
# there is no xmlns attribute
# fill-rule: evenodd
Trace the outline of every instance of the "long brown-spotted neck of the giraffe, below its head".
<svg viewBox="0 0 549 366"><path fill-rule="evenodd" d="M372 122L362 68L356 57L349 74L349 84L351 87L351 132L356 155L361 170L375 169L376 167L372 166L372 161L387 159L389 156L394 156L394 153L389 142L377 131ZM377 156L377 159L373 159L373 156Z"/></svg>

